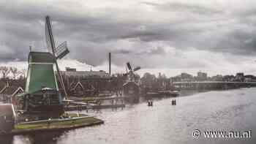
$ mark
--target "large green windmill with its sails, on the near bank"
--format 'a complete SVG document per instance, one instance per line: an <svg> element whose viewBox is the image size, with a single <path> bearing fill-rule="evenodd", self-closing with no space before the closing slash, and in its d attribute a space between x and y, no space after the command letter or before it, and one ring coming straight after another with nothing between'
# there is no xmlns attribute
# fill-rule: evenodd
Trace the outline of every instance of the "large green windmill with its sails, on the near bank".
<svg viewBox="0 0 256 144"><path fill-rule="evenodd" d="M62 99L67 98L57 60L66 56L69 50L67 42L55 47L49 16L46 16L45 37L48 52L29 53L25 93L20 96L23 97L23 110L26 113L39 115L39 118L57 118L64 113ZM61 96L57 80L65 96Z"/></svg>

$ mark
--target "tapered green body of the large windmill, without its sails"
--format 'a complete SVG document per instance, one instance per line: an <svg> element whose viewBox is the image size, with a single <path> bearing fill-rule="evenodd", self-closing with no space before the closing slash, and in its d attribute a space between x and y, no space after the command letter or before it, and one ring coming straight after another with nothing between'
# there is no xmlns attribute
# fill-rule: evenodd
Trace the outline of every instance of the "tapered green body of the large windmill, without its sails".
<svg viewBox="0 0 256 144"><path fill-rule="evenodd" d="M39 118L55 118L64 113L56 78L56 59L51 53L30 52L23 107Z"/></svg>

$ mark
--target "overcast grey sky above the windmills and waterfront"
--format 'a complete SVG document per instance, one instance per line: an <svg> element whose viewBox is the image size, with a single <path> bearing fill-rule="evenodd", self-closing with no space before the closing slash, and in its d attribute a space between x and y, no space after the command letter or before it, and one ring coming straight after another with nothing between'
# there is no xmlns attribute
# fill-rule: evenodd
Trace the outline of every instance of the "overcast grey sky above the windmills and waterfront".
<svg viewBox="0 0 256 144"><path fill-rule="evenodd" d="M70 53L61 68L143 72L168 76L256 75L256 1L42 0L0 1L0 65L26 67L29 45L46 50L45 15L56 44ZM91 66L90 66L91 65Z"/></svg>

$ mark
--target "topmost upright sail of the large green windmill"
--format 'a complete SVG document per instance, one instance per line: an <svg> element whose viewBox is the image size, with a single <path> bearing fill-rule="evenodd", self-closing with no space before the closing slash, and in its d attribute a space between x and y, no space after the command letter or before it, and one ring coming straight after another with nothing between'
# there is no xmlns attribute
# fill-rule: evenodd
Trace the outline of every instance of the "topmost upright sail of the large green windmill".
<svg viewBox="0 0 256 144"><path fill-rule="evenodd" d="M51 28L49 16L45 17L45 40L46 40L48 52L55 53L56 48L55 48L55 43L54 43L54 39L53 39L53 31Z"/></svg>

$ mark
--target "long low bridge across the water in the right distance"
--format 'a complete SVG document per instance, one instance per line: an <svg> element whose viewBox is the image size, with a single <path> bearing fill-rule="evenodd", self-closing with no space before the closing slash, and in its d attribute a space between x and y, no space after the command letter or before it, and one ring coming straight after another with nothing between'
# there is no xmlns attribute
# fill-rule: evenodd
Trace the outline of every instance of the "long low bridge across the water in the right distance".
<svg viewBox="0 0 256 144"><path fill-rule="evenodd" d="M229 89L255 87L255 82L230 82L230 81L184 81L173 82L175 88L181 89Z"/></svg>

